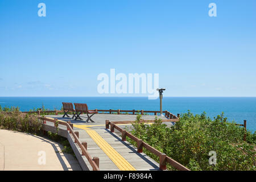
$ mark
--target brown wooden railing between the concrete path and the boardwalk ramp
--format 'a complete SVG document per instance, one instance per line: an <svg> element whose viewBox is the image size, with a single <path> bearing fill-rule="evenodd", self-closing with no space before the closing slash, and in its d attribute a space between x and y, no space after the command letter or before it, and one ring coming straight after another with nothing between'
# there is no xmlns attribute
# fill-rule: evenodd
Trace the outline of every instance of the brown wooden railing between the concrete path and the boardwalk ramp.
<svg viewBox="0 0 256 182"><path fill-rule="evenodd" d="M53 122L55 127L57 127L57 125L67 126L67 130L69 131L70 134L72 134L73 138L75 139L75 143L77 143L78 146L80 147L82 151L82 155L86 157L86 159L90 163L90 166L92 166L93 171L100 171L100 168L99 168L100 159L97 157L92 158L89 155L87 151L87 143L80 142L79 132L73 130L73 124L71 122L63 122L63 121L59 121L58 119L52 119L52 118L46 118L46 117L39 117L39 119L42 119L44 124L46 124L46 121Z"/></svg>

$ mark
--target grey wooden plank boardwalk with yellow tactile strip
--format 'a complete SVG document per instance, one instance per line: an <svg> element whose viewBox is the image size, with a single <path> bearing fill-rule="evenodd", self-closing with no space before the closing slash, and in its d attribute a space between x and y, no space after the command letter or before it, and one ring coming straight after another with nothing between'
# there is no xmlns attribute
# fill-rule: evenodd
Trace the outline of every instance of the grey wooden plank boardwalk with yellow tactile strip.
<svg viewBox="0 0 256 182"><path fill-rule="evenodd" d="M47 115L48 118L57 118L61 121L71 121L73 130L79 131L79 140L87 142L87 150L91 156L100 158L101 171L134 171L134 170L159 170L159 164L144 153L138 153L137 148L128 142L123 142L118 133L111 133L105 129L105 120L109 121L134 121L136 115L95 114L94 123L85 123L86 115L81 115L84 121L75 121L70 118L62 118L62 115ZM143 119L155 119L154 115L143 115ZM160 117L166 119L165 117ZM49 123L51 125L52 123ZM172 125L169 123L169 125ZM120 125L125 127L131 125ZM65 129L59 125L60 129ZM63 128L61 128L63 127ZM75 143L76 144L76 143ZM76 144L77 145L77 144ZM79 148L77 146L77 148ZM79 148L80 154L82 154ZM84 158L88 170L92 170L88 160Z"/></svg>

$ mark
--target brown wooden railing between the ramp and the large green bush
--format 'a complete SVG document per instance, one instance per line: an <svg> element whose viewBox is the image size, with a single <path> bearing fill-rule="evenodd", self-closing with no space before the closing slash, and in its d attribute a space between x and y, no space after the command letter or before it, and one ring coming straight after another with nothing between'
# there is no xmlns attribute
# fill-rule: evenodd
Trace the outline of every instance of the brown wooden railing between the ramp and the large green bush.
<svg viewBox="0 0 256 182"><path fill-rule="evenodd" d="M106 129L109 129L110 125L110 132L114 132L114 129L117 129L122 134L122 141L126 141L126 137L129 137L130 139L134 140L137 143L137 152L141 153L143 151L143 147L146 148L148 151L150 151L152 154L155 154L159 157L159 168L162 170L166 170L166 163L171 164L172 167L175 167L178 170L181 171L190 171L188 168L184 167L182 164L176 162L174 159L171 159L166 154L163 154L162 152L156 150L155 148L151 147L146 142L143 142L143 140L135 137L131 133L127 132L126 130L121 129L121 127L118 127L117 124L119 123L130 123L131 121L124 121L124 122L110 122L109 120L106 120ZM134 121L133 121L134 122ZM141 121L141 122L148 122L148 121ZM149 121L154 122L154 121Z"/></svg>

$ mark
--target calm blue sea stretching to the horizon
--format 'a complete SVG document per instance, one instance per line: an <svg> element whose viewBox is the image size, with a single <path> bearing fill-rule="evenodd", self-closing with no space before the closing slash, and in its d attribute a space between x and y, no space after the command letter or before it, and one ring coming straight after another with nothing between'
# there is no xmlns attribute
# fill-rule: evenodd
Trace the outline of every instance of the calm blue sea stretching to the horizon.
<svg viewBox="0 0 256 182"><path fill-rule="evenodd" d="M61 102L86 103L89 109L159 110L159 99L147 97L0 97L2 107L19 106L22 111L42 105L50 110L60 109ZM256 97L164 97L163 110L174 114L205 111L211 118L224 111L228 121L242 124L246 119L247 129L256 130Z"/></svg>

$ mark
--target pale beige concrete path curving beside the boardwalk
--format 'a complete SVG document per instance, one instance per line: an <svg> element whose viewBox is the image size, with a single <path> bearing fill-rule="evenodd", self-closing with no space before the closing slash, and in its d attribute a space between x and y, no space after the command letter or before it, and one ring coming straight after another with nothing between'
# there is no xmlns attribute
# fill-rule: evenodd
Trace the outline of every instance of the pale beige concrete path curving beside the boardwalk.
<svg viewBox="0 0 256 182"><path fill-rule="evenodd" d="M18 131L0 130L0 171L81 170L63 146L49 139Z"/></svg>

